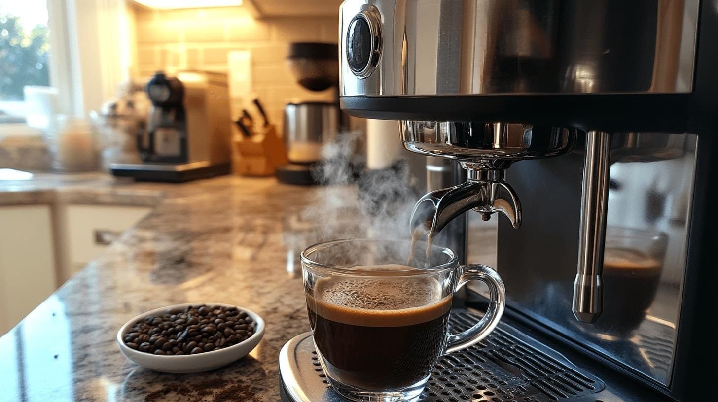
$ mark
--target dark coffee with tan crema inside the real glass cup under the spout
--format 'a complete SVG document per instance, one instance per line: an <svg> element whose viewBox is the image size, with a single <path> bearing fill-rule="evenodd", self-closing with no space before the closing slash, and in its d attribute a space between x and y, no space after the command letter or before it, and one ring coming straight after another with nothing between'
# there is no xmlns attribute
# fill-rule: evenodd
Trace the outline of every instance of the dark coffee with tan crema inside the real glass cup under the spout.
<svg viewBox="0 0 718 402"><path fill-rule="evenodd" d="M381 281L356 287L358 291L346 295L350 306L307 295L314 344L325 358L330 375L342 383L375 391L404 388L426 378L444 349L451 296L441 298L440 290L431 296L438 284L423 295L401 289L410 305L430 303L392 309L405 307L398 304L401 292L389 291L383 299L386 285ZM320 297L321 293L315 292ZM341 303L336 295L329 299ZM363 300L368 301L368 308L355 307L364 304Z"/></svg>

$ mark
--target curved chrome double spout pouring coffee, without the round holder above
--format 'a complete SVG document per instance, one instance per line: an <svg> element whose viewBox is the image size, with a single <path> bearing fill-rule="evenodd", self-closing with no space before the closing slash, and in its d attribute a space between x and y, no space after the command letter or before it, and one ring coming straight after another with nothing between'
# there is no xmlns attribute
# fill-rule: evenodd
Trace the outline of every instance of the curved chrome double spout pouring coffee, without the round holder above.
<svg viewBox="0 0 718 402"><path fill-rule="evenodd" d="M426 193L411 212L412 230L422 230L433 237L447 223L466 212L475 210L482 220L501 212L514 228L521 225L521 202L516 192L504 181L505 171L467 167L467 181L454 187Z"/></svg>

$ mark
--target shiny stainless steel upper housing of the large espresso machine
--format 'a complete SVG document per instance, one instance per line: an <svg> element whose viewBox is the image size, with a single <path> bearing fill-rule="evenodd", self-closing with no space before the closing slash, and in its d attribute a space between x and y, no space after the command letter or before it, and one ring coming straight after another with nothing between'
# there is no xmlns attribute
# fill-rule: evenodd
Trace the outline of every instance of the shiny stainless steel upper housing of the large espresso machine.
<svg viewBox="0 0 718 402"><path fill-rule="evenodd" d="M381 14L373 73L347 61L348 28L367 7ZM698 7L698 0L347 0L340 94L687 93Z"/></svg>

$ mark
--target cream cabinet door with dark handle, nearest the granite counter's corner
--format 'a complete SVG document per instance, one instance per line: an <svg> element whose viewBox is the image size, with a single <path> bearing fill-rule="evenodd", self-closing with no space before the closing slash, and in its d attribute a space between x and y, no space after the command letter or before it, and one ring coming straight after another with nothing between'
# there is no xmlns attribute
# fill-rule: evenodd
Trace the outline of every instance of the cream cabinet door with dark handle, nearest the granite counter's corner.
<svg viewBox="0 0 718 402"><path fill-rule="evenodd" d="M67 267L60 275L65 281L103 251L125 230L144 218L150 207L116 205L67 205L63 207L63 242Z"/></svg>

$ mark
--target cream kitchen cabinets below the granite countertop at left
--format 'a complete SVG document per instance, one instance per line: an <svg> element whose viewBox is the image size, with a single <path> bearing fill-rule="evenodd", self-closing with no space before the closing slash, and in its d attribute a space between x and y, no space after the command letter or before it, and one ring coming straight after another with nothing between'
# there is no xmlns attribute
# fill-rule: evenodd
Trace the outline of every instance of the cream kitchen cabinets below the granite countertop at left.
<svg viewBox="0 0 718 402"><path fill-rule="evenodd" d="M149 212L117 205L0 206L0 335Z"/></svg>

